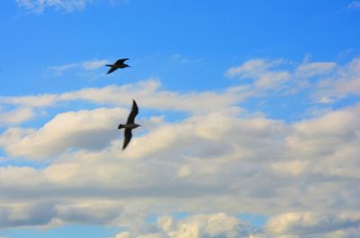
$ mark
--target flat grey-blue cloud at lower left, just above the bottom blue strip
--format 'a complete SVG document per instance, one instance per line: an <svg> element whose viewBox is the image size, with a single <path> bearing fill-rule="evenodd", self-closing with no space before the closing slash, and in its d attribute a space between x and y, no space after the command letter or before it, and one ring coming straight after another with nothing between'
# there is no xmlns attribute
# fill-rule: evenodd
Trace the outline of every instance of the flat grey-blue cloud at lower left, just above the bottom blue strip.
<svg viewBox="0 0 360 238"><path fill-rule="evenodd" d="M14 203L0 206L0 228L40 227L65 224L106 224L121 214L121 207L110 202L83 201L81 203L56 201Z"/></svg>

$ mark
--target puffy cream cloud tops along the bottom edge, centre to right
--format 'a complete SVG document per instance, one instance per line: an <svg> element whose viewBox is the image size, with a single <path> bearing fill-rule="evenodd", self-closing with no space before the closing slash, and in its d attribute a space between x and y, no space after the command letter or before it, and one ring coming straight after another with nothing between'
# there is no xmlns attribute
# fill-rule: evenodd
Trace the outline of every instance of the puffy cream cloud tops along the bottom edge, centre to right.
<svg viewBox="0 0 360 238"><path fill-rule="evenodd" d="M356 213L285 213L271 217L265 229L254 229L238 217L224 213L193 215L183 219L160 216L157 224L148 229L134 225L130 231L116 234L113 238L350 238L356 237L360 231L359 223Z"/></svg>

